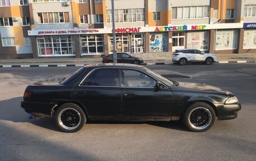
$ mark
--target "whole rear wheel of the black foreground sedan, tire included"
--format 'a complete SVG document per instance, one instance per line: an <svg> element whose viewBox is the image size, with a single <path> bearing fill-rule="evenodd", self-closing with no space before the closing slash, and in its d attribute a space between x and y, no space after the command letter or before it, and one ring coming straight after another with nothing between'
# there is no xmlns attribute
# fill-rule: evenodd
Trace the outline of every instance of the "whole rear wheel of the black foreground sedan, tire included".
<svg viewBox="0 0 256 161"><path fill-rule="evenodd" d="M56 111L55 121L63 132L79 131L86 123L86 116L79 105L74 103L62 104Z"/></svg>

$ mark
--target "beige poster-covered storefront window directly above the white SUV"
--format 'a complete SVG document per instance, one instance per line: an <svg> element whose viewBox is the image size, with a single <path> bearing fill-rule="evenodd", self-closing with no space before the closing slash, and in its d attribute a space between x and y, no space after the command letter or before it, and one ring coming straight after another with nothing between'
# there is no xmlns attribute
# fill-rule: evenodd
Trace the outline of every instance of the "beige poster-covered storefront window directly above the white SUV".
<svg viewBox="0 0 256 161"><path fill-rule="evenodd" d="M188 34L188 44L186 48L208 50L209 32L191 32Z"/></svg>

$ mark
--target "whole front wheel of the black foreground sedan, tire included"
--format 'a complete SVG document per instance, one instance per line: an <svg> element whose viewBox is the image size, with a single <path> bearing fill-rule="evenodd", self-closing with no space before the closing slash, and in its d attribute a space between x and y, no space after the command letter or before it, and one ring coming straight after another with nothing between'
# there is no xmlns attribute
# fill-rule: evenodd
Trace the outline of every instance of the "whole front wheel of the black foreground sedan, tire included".
<svg viewBox="0 0 256 161"><path fill-rule="evenodd" d="M196 102L189 106L182 116L184 125L193 132L209 130L216 120L214 109L204 102Z"/></svg>

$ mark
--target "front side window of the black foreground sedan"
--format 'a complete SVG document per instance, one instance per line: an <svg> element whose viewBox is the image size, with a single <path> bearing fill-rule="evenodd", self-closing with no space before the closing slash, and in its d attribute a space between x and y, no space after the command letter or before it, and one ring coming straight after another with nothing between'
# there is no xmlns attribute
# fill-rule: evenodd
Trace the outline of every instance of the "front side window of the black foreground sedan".
<svg viewBox="0 0 256 161"><path fill-rule="evenodd" d="M143 72L135 70L121 70L121 86L154 88L156 80Z"/></svg>

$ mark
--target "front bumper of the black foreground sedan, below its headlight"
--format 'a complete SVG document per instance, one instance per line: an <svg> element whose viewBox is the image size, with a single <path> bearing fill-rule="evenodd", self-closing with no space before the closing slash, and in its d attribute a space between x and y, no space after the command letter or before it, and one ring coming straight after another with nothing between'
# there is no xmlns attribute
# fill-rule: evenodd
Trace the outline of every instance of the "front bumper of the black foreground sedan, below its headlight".
<svg viewBox="0 0 256 161"><path fill-rule="evenodd" d="M234 119L241 110L241 104L214 104L217 109L218 120Z"/></svg>

